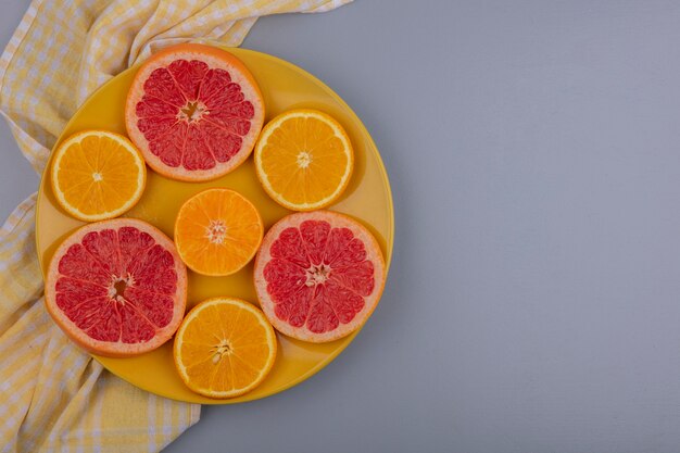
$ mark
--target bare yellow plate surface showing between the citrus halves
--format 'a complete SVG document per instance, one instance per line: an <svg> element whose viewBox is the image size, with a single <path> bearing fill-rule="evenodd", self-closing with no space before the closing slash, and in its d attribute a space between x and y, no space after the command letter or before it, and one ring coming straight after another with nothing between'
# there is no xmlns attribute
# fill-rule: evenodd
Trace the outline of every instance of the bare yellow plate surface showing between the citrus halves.
<svg viewBox="0 0 680 453"><path fill-rule="evenodd" d="M298 66L252 50L227 50L241 59L255 76L264 95L266 119L288 109L312 108L329 113L344 126L354 146L354 173L340 201L329 209L362 221L380 242L389 266L394 234L392 196L378 150L362 122L338 95ZM136 71L123 72L92 95L66 125L55 147L65 137L83 129L101 128L126 134L125 97ZM36 216L36 242L43 274L59 243L83 225L56 204L47 168L49 164L42 174ZM149 172L141 200L125 216L150 222L172 237L181 203L198 191L215 186L228 187L248 197L260 210L265 228L289 213L264 192L257 183L251 156L236 171L210 183L179 183ZM190 307L216 295L234 295L256 304L252 275L253 263L228 277L205 277L189 272L187 305ZM280 348L269 376L250 393L230 400L201 397L185 387L173 364L172 341L136 357L95 358L128 382L162 397L202 404L230 404L268 397L303 381L330 363L355 336L356 332L330 343L313 344L277 334Z"/></svg>

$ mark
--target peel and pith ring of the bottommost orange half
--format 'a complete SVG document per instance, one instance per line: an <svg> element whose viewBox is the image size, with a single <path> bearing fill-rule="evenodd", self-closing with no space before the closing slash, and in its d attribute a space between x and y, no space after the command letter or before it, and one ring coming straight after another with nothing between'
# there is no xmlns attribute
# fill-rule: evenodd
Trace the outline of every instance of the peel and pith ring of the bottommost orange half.
<svg viewBox="0 0 680 453"><path fill-rule="evenodd" d="M234 389L230 391L218 391L218 390L206 389L204 387L198 386L189 377L187 373L187 367L185 366L185 364L182 363L180 358L180 349L184 342L185 332L189 324L194 322L198 315L203 310L207 309L209 306L216 305L216 304L224 304L224 303L237 305L238 307L248 310L250 313L252 313L254 317L257 319L257 322L263 326L266 332L266 337L267 337L267 344L270 348L267 364L263 369L261 369L257 378L253 380L247 387L243 387L240 389ZM181 322L181 325L177 329L177 335L175 336L175 342L173 345L173 357L175 362L175 367L177 368L177 373L179 374L179 377L181 378L182 382L189 389L191 389L191 391L202 394L203 397L215 398L215 399L227 399L227 398L239 397L241 394L248 393L249 391L257 387L260 383L262 383L262 381L267 377L267 375L274 367L274 363L276 361L276 353L277 353L276 334L272 325L267 322L267 318L262 313L262 311L257 310L257 307L255 307L253 304L244 300L237 299L237 298L228 298L228 297L207 299L203 302L200 302L193 309L191 309L191 311L187 314L187 316L185 316L185 319Z"/></svg>

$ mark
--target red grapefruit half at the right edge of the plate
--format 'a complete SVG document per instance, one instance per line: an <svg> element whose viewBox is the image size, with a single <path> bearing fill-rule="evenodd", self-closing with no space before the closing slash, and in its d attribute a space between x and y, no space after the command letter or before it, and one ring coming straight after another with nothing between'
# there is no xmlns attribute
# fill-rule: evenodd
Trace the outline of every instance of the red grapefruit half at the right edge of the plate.
<svg viewBox="0 0 680 453"><path fill-rule="evenodd" d="M281 334L312 342L358 329L376 307L385 279L373 235L330 211L284 217L267 231L255 259L264 314Z"/></svg>

